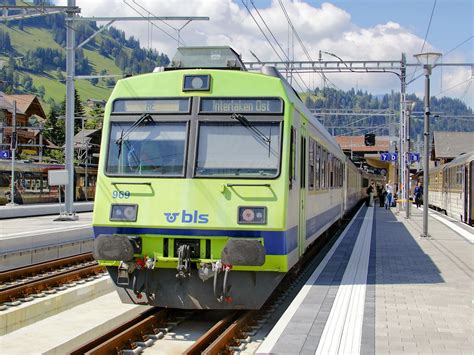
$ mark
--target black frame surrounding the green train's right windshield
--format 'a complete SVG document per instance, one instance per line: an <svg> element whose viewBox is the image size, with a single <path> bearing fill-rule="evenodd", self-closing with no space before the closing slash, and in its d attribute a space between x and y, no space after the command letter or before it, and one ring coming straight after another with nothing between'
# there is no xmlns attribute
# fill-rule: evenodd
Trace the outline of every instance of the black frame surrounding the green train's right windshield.
<svg viewBox="0 0 474 355"><path fill-rule="evenodd" d="M283 140L284 140L284 120L283 115L279 116L259 116L253 117L249 120L252 123L277 123L280 128L280 144L279 144L279 159L278 159L278 170L273 176L238 176L238 175L198 175L197 174L197 163L199 156L199 143L200 143L200 129L202 124L218 124L218 123L232 123L236 124L236 121L231 119L229 115L219 115L213 117L200 116L197 120L196 132L194 137L194 156L192 160L192 178L195 179L237 179L237 180L276 180L281 175L282 159L283 159Z"/></svg>

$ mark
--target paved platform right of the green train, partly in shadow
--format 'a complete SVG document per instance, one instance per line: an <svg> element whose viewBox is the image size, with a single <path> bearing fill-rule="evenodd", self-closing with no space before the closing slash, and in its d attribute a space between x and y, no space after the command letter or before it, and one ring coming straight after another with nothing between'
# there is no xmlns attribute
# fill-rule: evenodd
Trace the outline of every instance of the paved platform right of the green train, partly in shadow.
<svg viewBox="0 0 474 355"><path fill-rule="evenodd" d="M359 210L258 354L473 354L470 227L392 210Z"/></svg>

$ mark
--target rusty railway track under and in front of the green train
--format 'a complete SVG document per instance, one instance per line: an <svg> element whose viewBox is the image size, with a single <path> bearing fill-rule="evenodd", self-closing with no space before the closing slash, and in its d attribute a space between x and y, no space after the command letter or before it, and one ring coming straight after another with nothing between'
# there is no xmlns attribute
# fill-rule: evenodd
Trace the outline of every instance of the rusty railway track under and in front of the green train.
<svg viewBox="0 0 474 355"><path fill-rule="evenodd" d="M318 238L314 248L309 250L297 268L288 273L260 310L214 311L219 314L219 318L216 321L201 322L199 329L195 331L200 332L200 335L196 336L193 342L189 331L192 326L189 323L196 323L198 318L202 320L205 312L209 311L155 307L71 353L139 354L145 349L150 354L214 355L247 352L247 345L262 327L278 320L349 221L350 219L346 219L342 224L333 226L324 236ZM181 344L174 350L168 348L170 342L182 342L183 339L192 342L192 345L183 348Z"/></svg>

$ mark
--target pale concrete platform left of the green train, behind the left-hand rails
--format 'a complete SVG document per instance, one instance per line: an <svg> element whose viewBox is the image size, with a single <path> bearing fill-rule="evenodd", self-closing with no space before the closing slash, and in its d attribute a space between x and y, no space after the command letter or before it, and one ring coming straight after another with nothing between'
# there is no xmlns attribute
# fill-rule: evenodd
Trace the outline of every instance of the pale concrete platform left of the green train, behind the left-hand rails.
<svg viewBox="0 0 474 355"><path fill-rule="evenodd" d="M92 213L76 221L57 216L10 218L0 222L0 271L90 252Z"/></svg>

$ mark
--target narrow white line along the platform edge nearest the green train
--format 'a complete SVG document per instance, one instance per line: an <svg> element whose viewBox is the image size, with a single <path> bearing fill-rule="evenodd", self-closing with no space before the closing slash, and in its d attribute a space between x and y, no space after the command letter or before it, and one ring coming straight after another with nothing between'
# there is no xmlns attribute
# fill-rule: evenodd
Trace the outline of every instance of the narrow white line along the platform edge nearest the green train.
<svg viewBox="0 0 474 355"><path fill-rule="evenodd" d="M363 206L359 209L357 214L352 218L350 223L347 225L346 229L342 232L341 236L338 238L338 240L334 243L334 245L331 247L329 252L326 254L324 259L319 263L318 267L312 275L309 277L309 279L306 281L305 285L302 287L298 295L295 297L293 302L291 302L290 306L287 308L285 313L281 316L281 318L278 320L277 324L273 327L273 329L270 331L270 333L267 335L265 338L264 342L262 345L257 350L257 354L262 354L262 353L271 353L272 348L275 346L276 342L280 339L280 336L282 333L285 331L286 326L290 322L291 318L293 318L294 314L300 307L301 303L303 303L304 299L306 298L306 295L308 292L311 290L314 282L318 279L319 275L321 272L324 270L326 267L327 263L333 256L334 252L336 251L337 247L339 244L341 244L342 240L346 236L347 232L349 229L352 227L352 223L359 217L360 212L362 211ZM373 209L372 209L373 210Z"/></svg>

